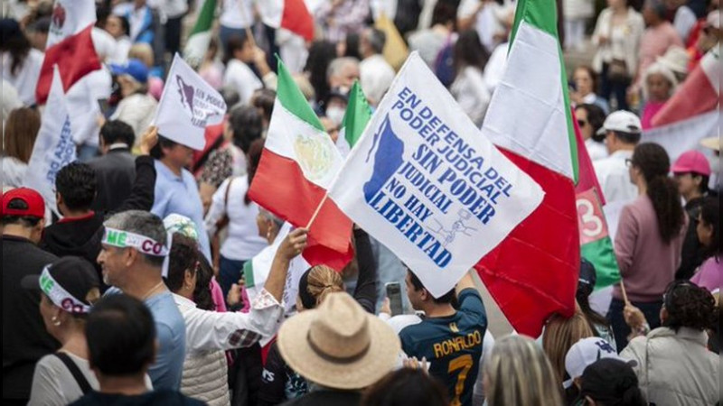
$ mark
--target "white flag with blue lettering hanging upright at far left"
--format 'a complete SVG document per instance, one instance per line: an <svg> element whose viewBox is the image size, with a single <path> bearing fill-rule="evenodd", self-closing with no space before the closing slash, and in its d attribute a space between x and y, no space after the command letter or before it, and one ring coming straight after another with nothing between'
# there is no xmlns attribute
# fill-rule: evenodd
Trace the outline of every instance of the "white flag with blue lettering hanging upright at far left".
<svg viewBox="0 0 723 406"><path fill-rule="evenodd" d="M55 67L48 104L42 113L38 137L25 171L23 185L35 189L45 200L45 206L57 215L55 176L65 165L75 161L75 143L70 130L70 114L62 89L61 74Z"/></svg>

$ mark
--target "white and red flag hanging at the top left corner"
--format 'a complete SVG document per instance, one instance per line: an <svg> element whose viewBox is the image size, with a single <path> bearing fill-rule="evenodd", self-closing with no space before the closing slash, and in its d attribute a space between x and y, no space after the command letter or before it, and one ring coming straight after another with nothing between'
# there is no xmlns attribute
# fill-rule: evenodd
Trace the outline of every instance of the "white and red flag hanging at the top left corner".
<svg viewBox="0 0 723 406"><path fill-rule="evenodd" d="M56 0L42 60L35 99L44 104L50 92L53 69L61 72L63 91L93 70L101 68L90 32L96 21L93 0Z"/></svg>

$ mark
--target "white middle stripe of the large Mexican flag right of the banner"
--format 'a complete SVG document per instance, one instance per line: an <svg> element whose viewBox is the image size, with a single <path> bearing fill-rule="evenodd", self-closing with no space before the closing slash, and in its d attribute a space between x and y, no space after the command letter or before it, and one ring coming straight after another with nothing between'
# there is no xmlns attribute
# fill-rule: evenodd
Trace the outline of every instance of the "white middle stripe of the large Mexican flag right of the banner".
<svg viewBox="0 0 723 406"><path fill-rule="evenodd" d="M572 179L558 46L549 33L520 24L508 60L523 62L508 64L485 115L482 133L495 145ZM516 85L520 83L525 87ZM510 115L517 119L511 120ZM540 128L544 128L541 134ZM566 135L566 143L559 143L560 134Z"/></svg>

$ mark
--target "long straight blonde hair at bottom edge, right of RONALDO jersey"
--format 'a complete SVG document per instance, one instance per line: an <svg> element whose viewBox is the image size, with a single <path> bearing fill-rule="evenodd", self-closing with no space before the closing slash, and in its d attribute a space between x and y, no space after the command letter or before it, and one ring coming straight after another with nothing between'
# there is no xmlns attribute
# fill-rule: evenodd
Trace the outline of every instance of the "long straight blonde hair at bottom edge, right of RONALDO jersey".
<svg viewBox="0 0 723 406"><path fill-rule="evenodd" d="M559 406L561 386L552 365L530 337L507 336L494 343L484 362L489 406Z"/></svg>

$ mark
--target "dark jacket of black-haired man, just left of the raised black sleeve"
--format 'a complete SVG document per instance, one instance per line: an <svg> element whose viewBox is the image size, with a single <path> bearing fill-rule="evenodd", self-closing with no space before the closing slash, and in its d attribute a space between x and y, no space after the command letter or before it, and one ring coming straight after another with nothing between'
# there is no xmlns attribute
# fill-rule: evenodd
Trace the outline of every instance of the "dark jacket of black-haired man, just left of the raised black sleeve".
<svg viewBox="0 0 723 406"><path fill-rule="evenodd" d="M98 180L98 196L91 208L100 213L117 210L133 189L135 157L127 148L120 148L110 150L88 164L96 171Z"/></svg>

